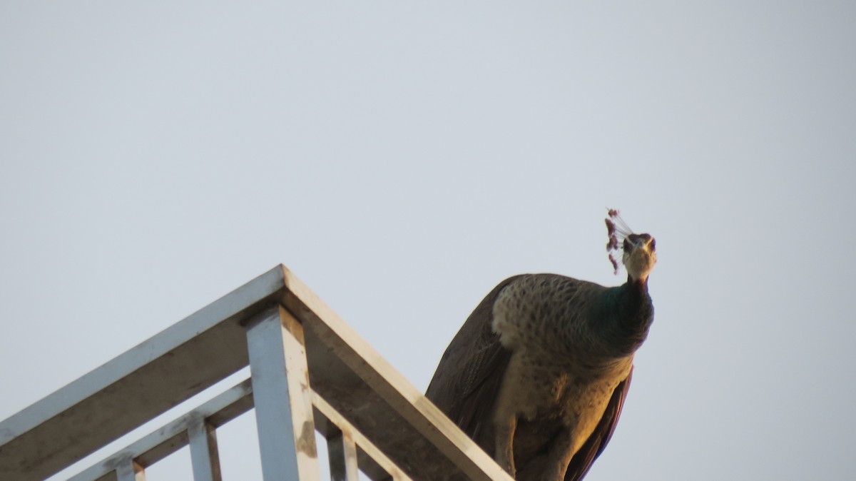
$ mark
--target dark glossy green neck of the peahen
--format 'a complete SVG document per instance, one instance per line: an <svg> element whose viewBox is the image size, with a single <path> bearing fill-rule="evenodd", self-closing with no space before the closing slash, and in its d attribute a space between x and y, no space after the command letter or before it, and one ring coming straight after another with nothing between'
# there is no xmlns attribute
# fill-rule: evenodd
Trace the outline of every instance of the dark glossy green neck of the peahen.
<svg viewBox="0 0 856 481"><path fill-rule="evenodd" d="M604 299L597 315L592 316L592 326L609 346L615 357L625 357L636 352L654 320L654 306L648 295L647 282L628 279L603 294Z"/></svg>

